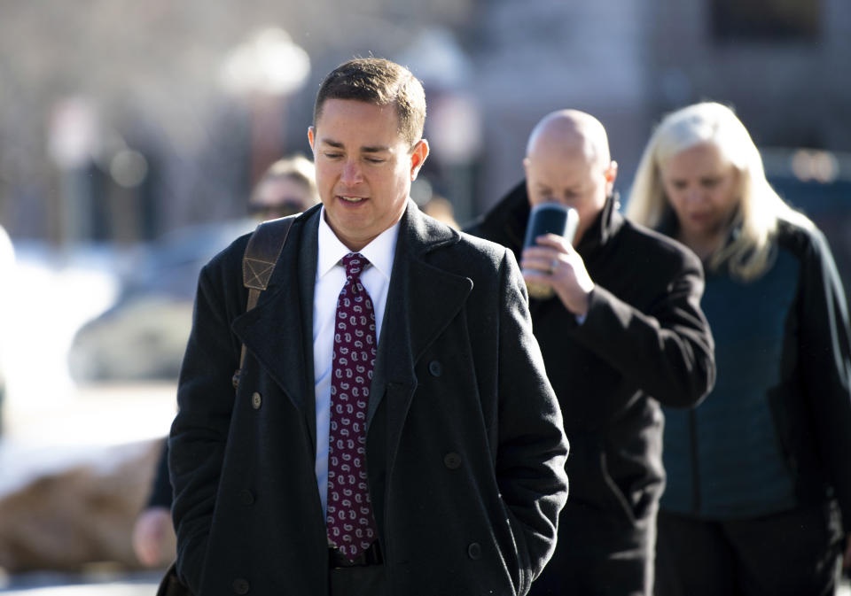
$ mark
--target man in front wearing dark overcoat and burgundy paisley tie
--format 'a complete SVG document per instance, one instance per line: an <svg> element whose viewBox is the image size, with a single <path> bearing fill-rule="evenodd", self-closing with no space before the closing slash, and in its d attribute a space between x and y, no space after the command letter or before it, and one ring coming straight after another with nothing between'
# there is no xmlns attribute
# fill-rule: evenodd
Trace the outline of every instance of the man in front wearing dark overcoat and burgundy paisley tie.
<svg viewBox="0 0 851 596"><path fill-rule="evenodd" d="M558 403L511 252L410 198L425 119L408 69L338 66L269 290L246 313L248 236L199 276L169 436L196 594L525 594L550 558Z"/></svg>

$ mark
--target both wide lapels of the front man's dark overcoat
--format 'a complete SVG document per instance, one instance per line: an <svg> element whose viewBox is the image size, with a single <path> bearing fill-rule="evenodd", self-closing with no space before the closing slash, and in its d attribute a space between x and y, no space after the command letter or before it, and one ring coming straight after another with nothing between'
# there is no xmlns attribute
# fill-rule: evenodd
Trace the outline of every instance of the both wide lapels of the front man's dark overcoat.
<svg viewBox="0 0 851 596"><path fill-rule="evenodd" d="M318 208L308 210L293 223L269 288L253 310L233 322L248 350L303 412L312 442L316 441L312 329L319 213ZM430 253L459 239L455 230L426 218L409 200L396 243L367 414L369 428L387 399L391 453L417 388L414 368L472 290L468 277L445 271L429 259ZM292 278L293 271L297 280Z"/></svg>

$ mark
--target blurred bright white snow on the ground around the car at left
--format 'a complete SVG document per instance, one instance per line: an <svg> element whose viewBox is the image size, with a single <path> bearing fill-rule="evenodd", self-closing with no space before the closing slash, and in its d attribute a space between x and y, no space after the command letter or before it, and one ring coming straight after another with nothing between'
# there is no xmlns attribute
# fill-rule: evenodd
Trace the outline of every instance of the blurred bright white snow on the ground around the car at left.
<svg viewBox="0 0 851 596"><path fill-rule="evenodd" d="M118 259L107 250L18 249L11 283L3 284L9 309L2 335L0 494L69 463L108 467L105 447L168 433L175 383L81 387L68 372L74 334L114 303Z"/></svg>

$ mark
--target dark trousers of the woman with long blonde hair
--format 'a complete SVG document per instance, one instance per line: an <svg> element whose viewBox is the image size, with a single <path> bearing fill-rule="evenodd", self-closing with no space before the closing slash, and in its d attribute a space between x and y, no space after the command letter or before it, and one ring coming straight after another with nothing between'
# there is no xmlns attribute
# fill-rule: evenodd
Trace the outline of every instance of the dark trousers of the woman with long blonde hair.
<svg viewBox="0 0 851 596"><path fill-rule="evenodd" d="M737 521L661 512L656 596L817 596L839 579L835 507Z"/></svg>

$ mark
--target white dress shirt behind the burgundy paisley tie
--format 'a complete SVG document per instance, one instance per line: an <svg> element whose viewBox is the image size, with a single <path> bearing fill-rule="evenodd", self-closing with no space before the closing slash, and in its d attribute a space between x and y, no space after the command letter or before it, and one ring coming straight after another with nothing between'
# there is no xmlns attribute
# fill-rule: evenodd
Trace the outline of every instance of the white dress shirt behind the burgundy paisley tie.
<svg viewBox="0 0 851 596"><path fill-rule="evenodd" d="M387 302L390 272L393 270L399 222L387 228L360 253L371 263L361 274L361 283L370 294L375 310L376 345ZM316 485L322 502L322 515L328 503L328 430L331 424L331 373L337 298L346 283L346 269L340 262L349 252L325 221L325 208L319 216L319 252L316 258L316 285L313 294L313 373L316 379Z"/></svg>

